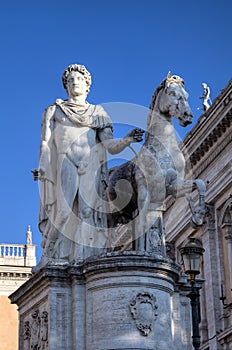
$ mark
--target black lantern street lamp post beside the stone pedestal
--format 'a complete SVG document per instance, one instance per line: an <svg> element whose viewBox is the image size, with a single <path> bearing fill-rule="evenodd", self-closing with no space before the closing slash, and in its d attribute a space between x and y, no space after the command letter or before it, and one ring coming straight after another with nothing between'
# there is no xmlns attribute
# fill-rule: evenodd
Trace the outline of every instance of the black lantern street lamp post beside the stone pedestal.
<svg viewBox="0 0 232 350"><path fill-rule="evenodd" d="M191 283L191 292L187 295L191 300L192 309L192 339L194 349L200 349L200 331L199 331L199 292L196 287L196 275L200 273L200 265L205 249L199 241L190 237L189 242L180 248L180 253L184 262L184 271L188 275Z"/></svg>

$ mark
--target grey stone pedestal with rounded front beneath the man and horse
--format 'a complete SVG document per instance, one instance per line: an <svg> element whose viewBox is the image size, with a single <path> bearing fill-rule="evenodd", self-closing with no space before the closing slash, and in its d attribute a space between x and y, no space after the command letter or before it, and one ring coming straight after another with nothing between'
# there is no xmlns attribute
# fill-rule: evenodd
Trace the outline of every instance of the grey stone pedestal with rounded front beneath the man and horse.
<svg viewBox="0 0 232 350"><path fill-rule="evenodd" d="M10 297L19 307L19 349L191 349L179 274L162 256L130 251L46 266Z"/></svg>

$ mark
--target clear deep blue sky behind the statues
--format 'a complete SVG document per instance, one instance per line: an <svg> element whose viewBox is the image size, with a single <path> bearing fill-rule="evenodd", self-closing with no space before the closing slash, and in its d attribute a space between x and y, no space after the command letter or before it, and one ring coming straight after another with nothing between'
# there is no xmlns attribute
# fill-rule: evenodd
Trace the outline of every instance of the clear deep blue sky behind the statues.
<svg viewBox="0 0 232 350"><path fill-rule="evenodd" d="M1 1L0 242L25 243L30 224L41 254L30 171L43 109L66 98L64 68L82 63L92 73L89 102L145 107L171 70L185 80L195 123L202 82L213 100L231 78L231 13L231 0Z"/></svg>

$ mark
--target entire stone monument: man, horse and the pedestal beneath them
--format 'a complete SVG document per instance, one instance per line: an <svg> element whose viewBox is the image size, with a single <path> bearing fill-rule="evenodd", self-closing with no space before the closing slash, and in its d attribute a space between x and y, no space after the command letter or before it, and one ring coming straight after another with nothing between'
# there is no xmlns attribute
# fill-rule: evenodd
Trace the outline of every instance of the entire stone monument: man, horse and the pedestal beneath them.
<svg viewBox="0 0 232 350"><path fill-rule="evenodd" d="M169 72L155 90L145 143L132 166L115 167L108 184L106 151L141 141L143 130L114 140L109 116L86 101L86 68L71 65L62 79L68 100L45 110L33 171L41 180L43 255L34 277L11 296L20 311L20 349L187 350L181 320L189 324L189 304L180 268L166 255L163 223L169 195L187 196L195 226L205 214L205 185L185 179L172 122L173 116L182 126L192 121L184 81ZM124 231L119 224L128 224L128 213Z"/></svg>

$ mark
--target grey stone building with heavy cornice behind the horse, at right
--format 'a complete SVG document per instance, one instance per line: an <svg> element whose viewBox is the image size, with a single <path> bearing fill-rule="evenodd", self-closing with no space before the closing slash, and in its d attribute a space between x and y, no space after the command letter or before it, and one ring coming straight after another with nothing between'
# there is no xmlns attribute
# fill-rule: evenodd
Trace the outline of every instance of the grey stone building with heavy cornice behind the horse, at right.
<svg viewBox="0 0 232 350"><path fill-rule="evenodd" d="M200 291L201 350L232 349L232 80L187 134L182 149L187 177L206 184L207 214L201 229L190 226L186 200L167 202L166 237L173 258L189 236L205 249ZM195 199L197 194L195 195Z"/></svg>

